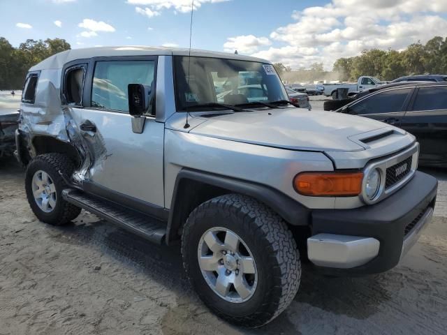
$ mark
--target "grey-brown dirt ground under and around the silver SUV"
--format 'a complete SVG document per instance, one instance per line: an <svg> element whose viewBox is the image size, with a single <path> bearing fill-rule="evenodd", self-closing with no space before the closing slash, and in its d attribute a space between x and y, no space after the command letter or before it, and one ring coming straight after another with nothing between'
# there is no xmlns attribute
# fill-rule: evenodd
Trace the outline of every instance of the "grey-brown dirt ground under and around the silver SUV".
<svg viewBox="0 0 447 335"><path fill-rule="evenodd" d="M23 170L0 161L0 334L446 334L447 174L429 172L441 182L434 221L402 264L362 278L305 267L286 312L247 330L200 304L178 247L86 212L45 225L29 209Z"/></svg>

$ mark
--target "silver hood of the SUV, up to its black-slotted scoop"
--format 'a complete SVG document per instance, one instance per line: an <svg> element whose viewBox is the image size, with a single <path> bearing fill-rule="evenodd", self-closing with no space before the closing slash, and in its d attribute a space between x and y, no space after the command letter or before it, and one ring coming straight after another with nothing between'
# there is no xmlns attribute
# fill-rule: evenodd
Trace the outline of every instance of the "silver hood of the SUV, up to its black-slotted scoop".
<svg viewBox="0 0 447 335"><path fill-rule="evenodd" d="M349 137L379 128L388 127L365 117L285 108L207 118L190 133L293 150L360 151L365 146Z"/></svg>

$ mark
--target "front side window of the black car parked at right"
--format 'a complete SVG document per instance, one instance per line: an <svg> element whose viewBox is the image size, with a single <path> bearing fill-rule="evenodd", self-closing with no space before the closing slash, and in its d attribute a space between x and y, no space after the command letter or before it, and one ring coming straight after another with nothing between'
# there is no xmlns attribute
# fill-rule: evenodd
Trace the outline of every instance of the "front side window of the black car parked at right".
<svg viewBox="0 0 447 335"><path fill-rule="evenodd" d="M381 114L402 112L406 97L411 89L393 89L381 92L349 107L353 114Z"/></svg>

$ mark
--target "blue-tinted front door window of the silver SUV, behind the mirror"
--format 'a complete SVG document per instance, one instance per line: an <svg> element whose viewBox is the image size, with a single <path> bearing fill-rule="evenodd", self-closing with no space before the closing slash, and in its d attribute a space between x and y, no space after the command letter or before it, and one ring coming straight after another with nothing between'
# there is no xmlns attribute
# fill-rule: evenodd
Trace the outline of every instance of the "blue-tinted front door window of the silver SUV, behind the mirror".
<svg viewBox="0 0 447 335"><path fill-rule="evenodd" d="M98 61L91 89L91 107L129 112L129 84L152 86L155 61ZM150 112L150 111L149 111Z"/></svg>

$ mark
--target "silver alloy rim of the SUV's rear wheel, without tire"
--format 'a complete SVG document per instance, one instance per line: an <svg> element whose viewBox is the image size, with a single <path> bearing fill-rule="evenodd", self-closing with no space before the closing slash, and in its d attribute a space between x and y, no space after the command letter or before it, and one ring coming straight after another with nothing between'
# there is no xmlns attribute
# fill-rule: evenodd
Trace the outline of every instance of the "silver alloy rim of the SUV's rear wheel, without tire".
<svg viewBox="0 0 447 335"><path fill-rule="evenodd" d="M45 213L51 213L56 207L56 186L47 172L38 170L31 181L34 201Z"/></svg>

